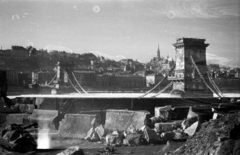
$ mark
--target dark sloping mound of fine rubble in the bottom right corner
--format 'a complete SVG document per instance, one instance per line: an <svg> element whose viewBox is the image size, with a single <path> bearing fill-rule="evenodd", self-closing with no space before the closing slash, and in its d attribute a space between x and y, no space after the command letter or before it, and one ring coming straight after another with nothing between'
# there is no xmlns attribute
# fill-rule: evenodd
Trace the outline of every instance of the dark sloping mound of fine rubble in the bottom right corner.
<svg viewBox="0 0 240 155"><path fill-rule="evenodd" d="M240 112L203 123L194 136L171 154L239 155Z"/></svg>

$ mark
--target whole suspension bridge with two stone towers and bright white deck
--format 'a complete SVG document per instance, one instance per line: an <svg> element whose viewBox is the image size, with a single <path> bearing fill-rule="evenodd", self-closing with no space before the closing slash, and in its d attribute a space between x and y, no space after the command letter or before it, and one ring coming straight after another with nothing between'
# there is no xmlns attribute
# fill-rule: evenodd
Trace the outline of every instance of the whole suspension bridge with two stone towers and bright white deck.
<svg viewBox="0 0 240 155"><path fill-rule="evenodd" d="M57 66L56 75L49 81L53 84L54 94L34 95L41 97L66 97L66 98L206 98L206 97L240 97L239 94L222 93L220 88L209 75L206 62L206 48L209 44L205 39L179 38L173 44L176 50L176 63L167 75L154 87L141 93L95 93L87 92L73 72L74 64L60 62ZM61 80L62 79L62 80ZM74 93L57 94L59 81L69 83L75 90ZM168 84L159 90L163 82ZM170 93L166 93L170 90ZM157 92L156 92L157 91ZM25 95L27 96L27 95Z"/></svg>

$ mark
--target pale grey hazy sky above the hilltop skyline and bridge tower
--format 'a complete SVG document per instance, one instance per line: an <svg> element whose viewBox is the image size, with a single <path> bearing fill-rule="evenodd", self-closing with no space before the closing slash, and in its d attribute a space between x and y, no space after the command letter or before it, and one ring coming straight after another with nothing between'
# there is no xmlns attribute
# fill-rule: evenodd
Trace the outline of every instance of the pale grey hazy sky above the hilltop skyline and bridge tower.
<svg viewBox="0 0 240 155"><path fill-rule="evenodd" d="M204 38L208 62L240 66L239 0L0 0L0 45L175 59L179 37Z"/></svg>

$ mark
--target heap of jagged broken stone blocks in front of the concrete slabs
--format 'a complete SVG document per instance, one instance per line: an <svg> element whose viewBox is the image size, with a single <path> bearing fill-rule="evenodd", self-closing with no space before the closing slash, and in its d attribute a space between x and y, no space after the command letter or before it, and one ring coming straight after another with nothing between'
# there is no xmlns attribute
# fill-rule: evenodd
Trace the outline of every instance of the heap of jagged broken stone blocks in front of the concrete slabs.
<svg viewBox="0 0 240 155"><path fill-rule="evenodd" d="M85 140L102 142L107 146L138 146L147 144L165 144L167 141L185 141L188 137L188 133L185 133L184 129L188 129L193 123L197 122L198 119L188 119L185 121L171 120L171 108L163 107L157 109L160 109L160 112L151 118L146 116L145 123L141 127L131 124L124 130L109 131L105 129L106 126L101 124L93 126L88 131ZM126 113L126 111L122 112ZM119 128L117 123L118 122L114 122L116 126L112 124L111 128ZM126 124L123 126L126 126Z"/></svg>

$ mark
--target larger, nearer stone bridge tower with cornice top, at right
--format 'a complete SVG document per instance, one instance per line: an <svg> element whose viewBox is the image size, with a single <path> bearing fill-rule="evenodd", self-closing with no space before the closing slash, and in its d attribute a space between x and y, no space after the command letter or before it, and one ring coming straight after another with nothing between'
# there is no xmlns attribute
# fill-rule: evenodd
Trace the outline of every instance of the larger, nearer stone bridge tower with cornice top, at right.
<svg viewBox="0 0 240 155"><path fill-rule="evenodd" d="M213 95L206 85L208 45L205 39L195 38L179 38L173 44L176 50L176 66L174 72L168 77L168 80L173 81L172 95L189 97Z"/></svg>

